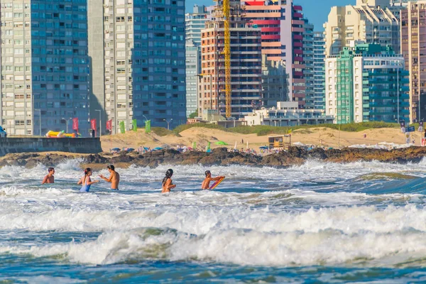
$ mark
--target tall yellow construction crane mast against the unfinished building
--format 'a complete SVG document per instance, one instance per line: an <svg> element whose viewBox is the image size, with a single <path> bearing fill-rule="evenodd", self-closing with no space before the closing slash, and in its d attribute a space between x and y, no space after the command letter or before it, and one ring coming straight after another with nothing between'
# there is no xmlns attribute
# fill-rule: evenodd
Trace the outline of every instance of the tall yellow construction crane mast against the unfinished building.
<svg viewBox="0 0 426 284"><path fill-rule="evenodd" d="M224 11L224 55L225 55L225 95L226 95L226 118L231 117L231 33L229 32L229 18L231 12L229 6L229 0L224 0L223 11Z"/></svg>

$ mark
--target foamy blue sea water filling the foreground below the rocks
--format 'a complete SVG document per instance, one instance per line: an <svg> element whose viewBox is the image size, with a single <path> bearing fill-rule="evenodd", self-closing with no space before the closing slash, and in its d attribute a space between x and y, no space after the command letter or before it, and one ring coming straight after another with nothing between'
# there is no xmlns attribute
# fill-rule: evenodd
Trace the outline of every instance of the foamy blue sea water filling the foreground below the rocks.
<svg viewBox="0 0 426 284"><path fill-rule="evenodd" d="M426 282L426 160L173 166L168 194L167 165L80 193L79 163L0 169L0 283Z"/></svg>

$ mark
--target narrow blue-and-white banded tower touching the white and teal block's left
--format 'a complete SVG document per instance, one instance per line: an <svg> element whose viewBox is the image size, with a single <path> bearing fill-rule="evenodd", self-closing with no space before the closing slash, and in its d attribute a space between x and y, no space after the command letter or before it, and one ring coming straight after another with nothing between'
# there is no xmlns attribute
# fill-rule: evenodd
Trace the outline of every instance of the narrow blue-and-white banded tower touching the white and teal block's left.
<svg viewBox="0 0 426 284"><path fill-rule="evenodd" d="M324 109L325 41L324 33L314 32L314 104L315 109Z"/></svg>

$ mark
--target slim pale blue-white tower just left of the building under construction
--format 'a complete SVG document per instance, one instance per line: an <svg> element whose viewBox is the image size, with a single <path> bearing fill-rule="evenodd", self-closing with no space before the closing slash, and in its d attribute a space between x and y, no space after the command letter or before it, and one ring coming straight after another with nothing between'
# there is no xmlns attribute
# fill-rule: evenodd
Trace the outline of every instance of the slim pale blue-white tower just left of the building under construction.
<svg viewBox="0 0 426 284"><path fill-rule="evenodd" d="M197 82L201 73L201 31L207 21L205 6L194 5L192 13L185 14L186 33L186 115L197 111Z"/></svg>

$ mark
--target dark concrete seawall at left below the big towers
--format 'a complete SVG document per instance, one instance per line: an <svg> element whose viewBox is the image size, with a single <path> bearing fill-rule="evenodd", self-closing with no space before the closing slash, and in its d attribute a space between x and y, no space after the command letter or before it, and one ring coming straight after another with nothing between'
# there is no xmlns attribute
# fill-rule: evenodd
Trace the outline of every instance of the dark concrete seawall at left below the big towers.
<svg viewBox="0 0 426 284"><path fill-rule="evenodd" d="M99 138L0 138L0 156L48 151L94 154L102 148Z"/></svg>

